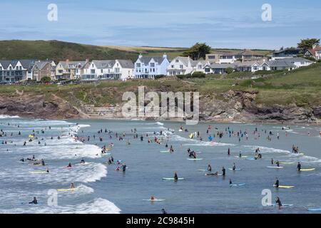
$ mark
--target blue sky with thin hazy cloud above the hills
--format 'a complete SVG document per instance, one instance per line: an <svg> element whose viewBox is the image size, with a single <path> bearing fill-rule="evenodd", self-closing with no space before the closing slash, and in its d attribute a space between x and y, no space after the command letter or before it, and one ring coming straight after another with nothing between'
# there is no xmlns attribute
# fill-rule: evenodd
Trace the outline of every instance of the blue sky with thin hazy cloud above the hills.
<svg viewBox="0 0 321 228"><path fill-rule="evenodd" d="M272 21L261 19L266 3ZM47 20L49 4L58 21ZM320 9L320 0L0 0L0 40L274 49L321 38Z"/></svg>

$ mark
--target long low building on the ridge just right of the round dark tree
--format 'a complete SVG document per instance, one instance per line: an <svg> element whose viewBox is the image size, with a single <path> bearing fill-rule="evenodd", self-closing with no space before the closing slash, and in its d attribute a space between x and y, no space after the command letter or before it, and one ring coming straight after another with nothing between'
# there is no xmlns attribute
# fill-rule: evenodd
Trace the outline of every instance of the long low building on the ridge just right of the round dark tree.
<svg viewBox="0 0 321 228"><path fill-rule="evenodd" d="M255 61L263 58L263 54L257 53L250 49L243 51L215 52L207 54L206 61L211 63L234 63L235 61Z"/></svg>

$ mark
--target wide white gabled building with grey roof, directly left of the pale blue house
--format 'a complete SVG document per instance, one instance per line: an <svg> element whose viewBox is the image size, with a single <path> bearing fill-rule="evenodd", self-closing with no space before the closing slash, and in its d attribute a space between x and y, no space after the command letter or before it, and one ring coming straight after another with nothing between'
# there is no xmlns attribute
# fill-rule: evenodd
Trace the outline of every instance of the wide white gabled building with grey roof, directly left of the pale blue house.
<svg viewBox="0 0 321 228"><path fill-rule="evenodd" d="M133 78L133 62L129 60L93 60L82 68L82 81Z"/></svg>

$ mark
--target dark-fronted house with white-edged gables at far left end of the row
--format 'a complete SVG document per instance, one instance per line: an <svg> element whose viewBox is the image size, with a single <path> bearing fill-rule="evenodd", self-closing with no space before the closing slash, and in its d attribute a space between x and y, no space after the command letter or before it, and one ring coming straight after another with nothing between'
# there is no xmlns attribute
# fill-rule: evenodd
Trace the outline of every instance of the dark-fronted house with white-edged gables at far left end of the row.
<svg viewBox="0 0 321 228"><path fill-rule="evenodd" d="M26 80L31 74L35 60L21 59L0 61L0 83L13 83Z"/></svg>

